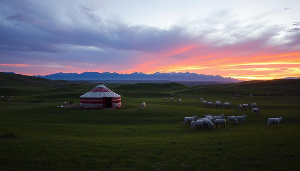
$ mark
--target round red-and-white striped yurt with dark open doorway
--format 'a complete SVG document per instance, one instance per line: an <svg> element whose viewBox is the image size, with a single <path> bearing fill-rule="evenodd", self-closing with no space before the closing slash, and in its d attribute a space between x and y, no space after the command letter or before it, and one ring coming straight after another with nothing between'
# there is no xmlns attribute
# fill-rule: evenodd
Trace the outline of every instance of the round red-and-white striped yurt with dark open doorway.
<svg viewBox="0 0 300 171"><path fill-rule="evenodd" d="M102 83L80 96L80 107L82 108L118 108L120 106L121 96Z"/></svg>

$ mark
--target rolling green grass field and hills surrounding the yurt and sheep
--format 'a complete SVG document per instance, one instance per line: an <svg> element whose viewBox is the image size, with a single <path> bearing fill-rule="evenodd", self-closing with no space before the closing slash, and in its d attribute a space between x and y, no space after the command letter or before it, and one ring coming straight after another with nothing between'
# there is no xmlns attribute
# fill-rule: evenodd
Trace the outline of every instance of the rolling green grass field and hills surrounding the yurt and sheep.
<svg viewBox="0 0 300 171"><path fill-rule="evenodd" d="M196 87L111 84L106 86L122 96L123 108L56 108L70 100L79 105L79 96L96 85L0 73L0 136L18 136L0 138L0 170L300 170L299 79ZM247 96L252 93L282 96ZM205 108L199 98L229 101L232 108ZM260 116L237 109L255 102ZM248 117L226 128L182 126L184 117L205 114ZM279 128L266 127L267 117L280 116Z"/></svg>

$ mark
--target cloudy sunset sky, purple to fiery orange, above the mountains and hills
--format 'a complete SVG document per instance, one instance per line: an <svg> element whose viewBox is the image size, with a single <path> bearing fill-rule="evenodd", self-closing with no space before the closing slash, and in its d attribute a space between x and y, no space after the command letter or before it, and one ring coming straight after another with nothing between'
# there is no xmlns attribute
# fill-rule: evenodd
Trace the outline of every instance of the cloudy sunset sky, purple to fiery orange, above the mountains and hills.
<svg viewBox="0 0 300 171"><path fill-rule="evenodd" d="M0 71L300 77L300 1L0 0Z"/></svg>

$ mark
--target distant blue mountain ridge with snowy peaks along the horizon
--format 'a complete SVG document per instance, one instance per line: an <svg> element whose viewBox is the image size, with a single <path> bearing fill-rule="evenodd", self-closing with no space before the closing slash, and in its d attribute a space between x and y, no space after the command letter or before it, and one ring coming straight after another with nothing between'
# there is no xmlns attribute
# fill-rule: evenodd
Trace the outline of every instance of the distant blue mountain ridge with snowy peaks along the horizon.
<svg viewBox="0 0 300 171"><path fill-rule="evenodd" d="M50 75L33 75L35 77L48 78L51 80L170 80L170 81L226 81L226 82L241 82L234 78L224 78L220 75L205 75L190 72L169 72L154 74L145 74L143 72L134 72L131 74L119 74L116 72L83 72L64 73L59 72Z"/></svg>

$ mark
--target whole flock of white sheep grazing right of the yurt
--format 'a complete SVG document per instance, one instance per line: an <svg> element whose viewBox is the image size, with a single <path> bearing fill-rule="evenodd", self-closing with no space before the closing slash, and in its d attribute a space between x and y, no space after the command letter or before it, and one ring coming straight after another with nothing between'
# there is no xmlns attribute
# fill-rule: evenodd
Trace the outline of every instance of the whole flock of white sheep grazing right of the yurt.
<svg viewBox="0 0 300 171"><path fill-rule="evenodd" d="M193 101L193 99L190 99L191 101ZM168 101L167 98L164 98L164 101ZM200 101L203 101L203 106L205 105L206 107L210 106L212 107L214 104L220 107L227 107L229 108L231 105L231 102L224 102L222 103L221 101L217 101L217 102L207 102L205 100L203 100L202 98L200 98ZM171 102L174 102L174 99L171 99ZM181 102L181 99L178 99L178 102ZM242 111L242 110L248 110L248 107L250 107L252 109L252 115L254 112L257 113L257 115L259 115L260 111L262 110L262 108L256 108L257 103L252 103L252 104L239 104L238 105L238 111ZM142 103L142 109L146 108L146 103L143 102ZM227 117L227 122L233 121L235 124L239 123L239 121L241 121L242 123L244 123L244 120L246 119L246 115L243 116L228 116ZM201 129L203 128L214 128L214 125L216 125L216 128L218 127L218 125L222 125L222 127L225 128L225 123L226 123L226 119L225 115L222 114L220 116L212 116L212 115L205 115L204 118L198 118L196 115L193 117L185 117L183 119L182 125L186 125L187 122L190 122L190 128L195 128L198 127ZM277 125L277 127L279 127L279 123L280 121L283 120L282 117L279 118L268 118L268 123L267 126L269 125L271 127L271 124L275 124L275 126ZM221 128L222 128L221 127Z"/></svg>

